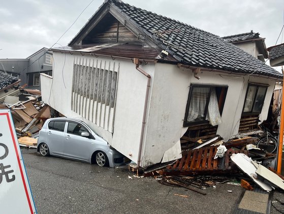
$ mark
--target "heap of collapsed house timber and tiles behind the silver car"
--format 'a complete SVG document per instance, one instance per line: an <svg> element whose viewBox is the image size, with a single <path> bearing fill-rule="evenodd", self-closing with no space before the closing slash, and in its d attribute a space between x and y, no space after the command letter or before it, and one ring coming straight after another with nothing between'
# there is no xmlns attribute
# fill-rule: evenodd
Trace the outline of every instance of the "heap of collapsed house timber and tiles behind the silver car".
<svg viewBox="0 0 284 214"><path fill-rule="evenodd" d="M17 136L34 136L50 118L50 108L39 90L19 87L21 79L0 72L0 109L10 109ZM36 144L36 143L35 143Z"/></svg>

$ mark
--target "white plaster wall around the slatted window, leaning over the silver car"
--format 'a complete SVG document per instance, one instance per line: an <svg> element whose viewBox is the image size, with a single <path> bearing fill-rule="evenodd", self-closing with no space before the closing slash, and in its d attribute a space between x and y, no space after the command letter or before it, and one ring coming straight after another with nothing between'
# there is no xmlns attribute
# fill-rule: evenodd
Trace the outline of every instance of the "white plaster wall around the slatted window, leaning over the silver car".
<svg viewBox="0 0 284 214"><path fill-rule="evenodd" d="M109 61L115 61L116 66L119 64L113 133L106 131L103 127L98 127L71 110L73 64L74 58L77 57L81 57L81 60L84 59L87 62L90 59L98 59L107 61L107 64ZM113 61L107 57L95 58L88 55L70 55L69 53L65 55L60 52L53 52L53 58L53 79L41 76L43 100L65 116L86 122L114 148L137 163L147 77L136 70L135 64L131 60L115 59ZM66 61L65 65L64 61ZM153 78L155 64L148 63L140 67Z"/></svg>

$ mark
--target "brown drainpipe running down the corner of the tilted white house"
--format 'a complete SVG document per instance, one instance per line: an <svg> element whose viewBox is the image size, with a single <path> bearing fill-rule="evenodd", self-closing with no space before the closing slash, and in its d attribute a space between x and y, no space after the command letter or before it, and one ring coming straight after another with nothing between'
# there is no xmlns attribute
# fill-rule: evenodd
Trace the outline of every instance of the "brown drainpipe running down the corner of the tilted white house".
<svg viewBox="0 0 284 214"><path fill-rule="evenodd" d="M148 78L147 81L147 88L146 88L146 95L145 95L145 102L144 102L144 111L143 111L143 120L142 120L142 127L141 127L141 136L140 136L140 144L139 144L139 151L138 151L138 162L137 166L140 168L140 162L141 162L141 152L142 152L142 144L144 139L144 130L145 130L145 124L146 124L146 113L147 113L147 106L148 106L148 97L149 97L149 89L151 84L151 76L141 68L139 68L140 62L138 58L134 58L134 64L136 65L136 70L138 70L140 73L142 73L144 76Z"/></svg>

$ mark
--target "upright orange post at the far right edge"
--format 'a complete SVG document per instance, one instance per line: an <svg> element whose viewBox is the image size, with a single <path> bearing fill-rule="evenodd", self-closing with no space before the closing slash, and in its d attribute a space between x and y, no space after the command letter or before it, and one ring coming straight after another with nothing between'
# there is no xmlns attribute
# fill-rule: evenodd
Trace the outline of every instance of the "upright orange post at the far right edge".
<svg viewBox="0 0 284 214"><path fill-rule="evenodd" d="M284 77L283 77L284 81ZM284 93L282 86L282 104L281 104L281 116L280 116L280 131L279 131L279 140L278 140L278 154L277 154L277 172L281 174L281 165L282 165L282 147L283 147L283 134L284 134Z"/></svg>

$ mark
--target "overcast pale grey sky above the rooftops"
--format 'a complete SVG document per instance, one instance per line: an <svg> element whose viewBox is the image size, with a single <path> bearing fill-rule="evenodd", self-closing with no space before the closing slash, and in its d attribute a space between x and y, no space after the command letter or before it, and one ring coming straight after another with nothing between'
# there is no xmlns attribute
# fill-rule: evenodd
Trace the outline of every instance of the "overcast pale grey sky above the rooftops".
<svg viewBox="0 0 284 214"><path fill-rule="evenodd" d="M26 58L51 47L91 0L9 0L0 5L0 59ZM103 4L93 0L72 28L60 39L65 46ZM124 0L218 36L253 30L275 45L283 25L283 0ZM280 36L277 44L284 42ZM59 45L55 45L59 46Z"/></svg>

